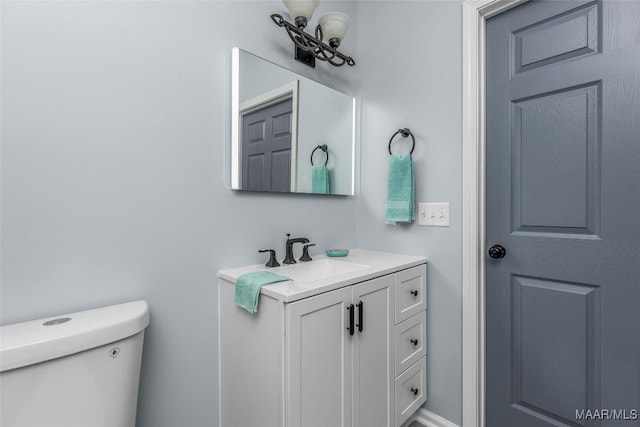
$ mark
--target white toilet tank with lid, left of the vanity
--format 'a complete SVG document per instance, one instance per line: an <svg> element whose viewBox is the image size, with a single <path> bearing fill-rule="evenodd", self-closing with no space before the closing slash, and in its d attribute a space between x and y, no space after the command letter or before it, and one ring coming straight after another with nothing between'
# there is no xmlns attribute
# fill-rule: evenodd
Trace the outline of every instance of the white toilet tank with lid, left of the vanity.
<svg viewBox="0 0 640 427"><path fill-rule="evenodd" d="M0 327L0 426L133 427L145 301Z"/></svg>

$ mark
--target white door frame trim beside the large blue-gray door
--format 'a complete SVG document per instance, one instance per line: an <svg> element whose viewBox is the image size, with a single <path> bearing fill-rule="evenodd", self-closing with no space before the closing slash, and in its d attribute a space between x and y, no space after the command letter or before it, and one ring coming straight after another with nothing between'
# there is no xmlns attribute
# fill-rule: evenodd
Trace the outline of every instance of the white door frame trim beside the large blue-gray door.
<svg viewBox="0 0 640 427"><path fill-rule="evenodd" d="M462 3L463 427L485 427L486 20L527 1Z"/></svg>

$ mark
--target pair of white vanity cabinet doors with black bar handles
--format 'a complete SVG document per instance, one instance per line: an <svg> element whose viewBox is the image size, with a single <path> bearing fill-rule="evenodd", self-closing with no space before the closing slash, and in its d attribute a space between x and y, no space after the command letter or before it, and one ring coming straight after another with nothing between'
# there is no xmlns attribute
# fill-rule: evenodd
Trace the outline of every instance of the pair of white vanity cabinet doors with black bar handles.
<svg viewBox="0 0 640 427"><path fill-rule="evenodd" d="M393 285L388 275L287 304L287 425L393 425Z"/></svg>

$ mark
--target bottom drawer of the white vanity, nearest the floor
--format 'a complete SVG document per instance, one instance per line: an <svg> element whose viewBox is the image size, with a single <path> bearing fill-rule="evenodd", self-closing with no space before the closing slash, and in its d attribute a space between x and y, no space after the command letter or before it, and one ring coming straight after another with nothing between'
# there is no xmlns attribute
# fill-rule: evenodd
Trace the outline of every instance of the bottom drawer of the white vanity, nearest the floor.
<svg viewBox="0 0 640 427"><path fill-rule="evenodd" d="M423 357L396 378L396 427L404 423L427 400L427 364Z"/></svg>

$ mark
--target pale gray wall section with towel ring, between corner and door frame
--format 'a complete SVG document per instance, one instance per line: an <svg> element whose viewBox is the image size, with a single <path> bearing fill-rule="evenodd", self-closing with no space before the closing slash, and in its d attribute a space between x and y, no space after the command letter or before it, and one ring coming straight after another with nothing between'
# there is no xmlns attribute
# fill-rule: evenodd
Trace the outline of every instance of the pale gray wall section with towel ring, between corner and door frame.
<svg viewBox="0 0 640 427"><path fill-rule="evenodd" d="M456 424L462 419L461 16L456 0L359 2L356 58L363 70L358 245L429 257L425 407ZM416 201L450 202L451 227L384 223L387 144L403 127L416 138ZM394 151L410 145L402 140L394 139Z"/></svg>

